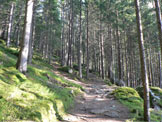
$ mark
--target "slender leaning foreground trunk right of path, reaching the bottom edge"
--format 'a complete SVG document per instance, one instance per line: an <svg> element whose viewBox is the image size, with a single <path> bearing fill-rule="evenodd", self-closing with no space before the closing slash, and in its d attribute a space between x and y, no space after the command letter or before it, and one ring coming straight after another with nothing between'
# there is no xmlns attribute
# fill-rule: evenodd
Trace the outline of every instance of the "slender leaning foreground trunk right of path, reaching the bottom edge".
<svg viewBox="0 0 162 122"><path fill-rule="evenodd" d="M150 122L149 83L148 83L147 66L146 66L146 59L145 59L145 48L144 48L144 39L143 39L143 32L142 32L140 2L139 0L134 0L134 2L135 2L135 9L136 9L138 43L139 43L140 62L141 62L141 78L143 81L143 88L144 88L144 120Z"/></svg>

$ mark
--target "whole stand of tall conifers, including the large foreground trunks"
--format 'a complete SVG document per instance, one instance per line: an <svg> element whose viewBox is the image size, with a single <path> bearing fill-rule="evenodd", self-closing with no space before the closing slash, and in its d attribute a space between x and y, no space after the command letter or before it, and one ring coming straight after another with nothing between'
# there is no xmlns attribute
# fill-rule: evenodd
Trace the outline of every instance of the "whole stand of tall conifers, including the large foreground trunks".
<svg viewBox="0 0 162 122"><path fill-rule="evenodd" d="M26 74L34 55L78 78L94 73L121 86L162 88L159 0L0 0L0 38ZM70 71L71 69L72 71ZM142 84L143 83L143 84Z"/></svg>

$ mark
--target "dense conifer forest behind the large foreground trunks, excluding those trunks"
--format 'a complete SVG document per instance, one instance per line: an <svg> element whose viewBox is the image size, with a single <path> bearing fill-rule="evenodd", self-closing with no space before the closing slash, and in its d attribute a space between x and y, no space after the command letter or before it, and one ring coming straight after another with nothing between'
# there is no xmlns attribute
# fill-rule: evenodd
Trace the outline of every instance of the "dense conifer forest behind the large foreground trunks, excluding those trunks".
<svg viewBox="0 0 162 122"><path fill-rule="evenodd" d="M140 10L149 81L159 86L160 41L154 2L141 1ZM25 1L1 1L1 38L8 46L20 45L24 18ZM32 19L29 45L49 62L57 55L63 66L72 67L81 57L82 66L88 62L90 70L103 78L122 79L131 87L141 83L134 1L89 0L81 6L76 0L34 1Z"/></svg>

